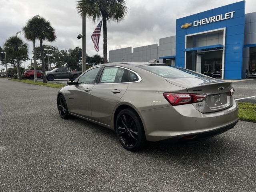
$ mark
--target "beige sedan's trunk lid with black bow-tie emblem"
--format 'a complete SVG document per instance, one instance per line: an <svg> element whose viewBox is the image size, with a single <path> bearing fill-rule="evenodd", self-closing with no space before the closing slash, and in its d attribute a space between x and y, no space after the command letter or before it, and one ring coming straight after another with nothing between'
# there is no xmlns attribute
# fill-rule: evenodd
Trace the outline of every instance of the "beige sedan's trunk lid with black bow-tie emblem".
<svg viewBox="0 0 256 192"><path fill-rule="evenodd" d="M176 86L186 88L188 93L206 94L203 102L194 103L194 107L202 112L215 112L224 110L233 105L230 96L231 82L224 82L208 77L166 78Z"/></svg>

